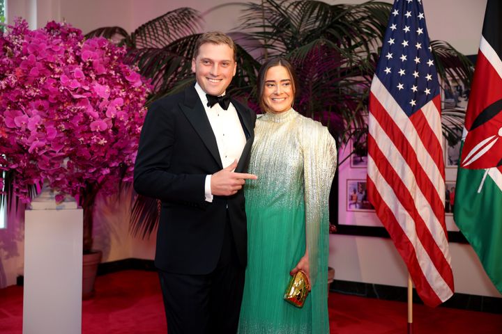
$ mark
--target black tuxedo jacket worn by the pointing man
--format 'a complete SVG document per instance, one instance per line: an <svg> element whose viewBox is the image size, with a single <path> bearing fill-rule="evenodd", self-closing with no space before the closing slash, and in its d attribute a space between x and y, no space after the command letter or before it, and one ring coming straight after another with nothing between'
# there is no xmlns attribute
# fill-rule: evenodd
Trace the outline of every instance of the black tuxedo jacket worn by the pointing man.
<svg viewBox="0 0 502 334"><path fill-rule="evenodd" d="M236 172L248 168L256 115L236 107L247 139ZM238 258L247 262L247 226L243 191L213 196L206 202L206 175L221 170L216 138L194 86L162 98L149 108L139 140L134 187L162 201L155 266L163 271L200 275L215 269L227 221ZM228 208L228 209L227 209Z"/></svg>

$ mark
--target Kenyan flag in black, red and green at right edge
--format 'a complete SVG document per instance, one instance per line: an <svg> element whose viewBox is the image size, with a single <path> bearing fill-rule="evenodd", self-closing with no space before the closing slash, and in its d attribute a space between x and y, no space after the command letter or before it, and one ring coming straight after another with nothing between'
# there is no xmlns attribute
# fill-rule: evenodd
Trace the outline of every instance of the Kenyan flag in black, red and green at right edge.
<svg viewBox="0 0 502 334"><path fill-rule="evenodd" d="M502 1L488 0L466 112L453 211L455 223L502 294L501 31Z"/></svg>

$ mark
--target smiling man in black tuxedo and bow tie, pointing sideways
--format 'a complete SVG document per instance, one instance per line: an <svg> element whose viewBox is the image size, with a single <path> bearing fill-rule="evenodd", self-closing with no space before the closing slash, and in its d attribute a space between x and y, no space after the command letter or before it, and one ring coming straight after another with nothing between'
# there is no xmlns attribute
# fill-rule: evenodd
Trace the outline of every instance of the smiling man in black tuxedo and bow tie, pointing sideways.
<svg viewBox="0 0 502 334"><path fill-rule="evenodd" d="M135 164L137 193L162 201L155 267L169 334L236 333L247 262L243 184L256 115L225 91L236 46L204 33L196 83L154 102Z"/></svg>

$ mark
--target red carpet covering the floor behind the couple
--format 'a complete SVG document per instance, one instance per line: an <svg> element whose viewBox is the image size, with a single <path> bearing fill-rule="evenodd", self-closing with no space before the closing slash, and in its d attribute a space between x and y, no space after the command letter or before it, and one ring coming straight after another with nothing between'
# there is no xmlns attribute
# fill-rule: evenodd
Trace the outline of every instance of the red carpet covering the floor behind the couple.
<svg viewBox="0 0 502 334"><path fill-rule="evenodd" d="M99 276L96 296L83 302L82 333L166 333L162 307L155 272ZM406 303L330 293L329 312L332 334L406 333ZM0 333L22 333L22 287L0 289ZM414 304L413 334L435 333L502 333L502 315Z"/></svg>

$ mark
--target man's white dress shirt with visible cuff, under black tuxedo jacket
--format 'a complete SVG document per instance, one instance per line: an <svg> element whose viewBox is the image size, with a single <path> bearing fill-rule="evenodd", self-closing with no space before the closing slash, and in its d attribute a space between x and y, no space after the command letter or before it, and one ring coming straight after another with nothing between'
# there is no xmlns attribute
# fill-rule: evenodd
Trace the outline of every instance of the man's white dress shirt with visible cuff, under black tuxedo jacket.
<svg viewBox="0 0 502 334"><path fill-rule="evenodd" d="M227 110L223 109L220 104L215 104L211 108L207 105L207 97L204 90L199 84L195 84L195 90L199 95L202 105L206 110L209 123L213 129L213 134L218 144L218 152L223 168L229 166L234 160L241 158L242 151L245 146L246 138L241 121L238 118L235 106L230 103ZM225 95L223 93L222 95ZM211 193L211 175L206 176L204 184L206 192L206 201L213 202L213 193Z"/></svg>

